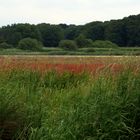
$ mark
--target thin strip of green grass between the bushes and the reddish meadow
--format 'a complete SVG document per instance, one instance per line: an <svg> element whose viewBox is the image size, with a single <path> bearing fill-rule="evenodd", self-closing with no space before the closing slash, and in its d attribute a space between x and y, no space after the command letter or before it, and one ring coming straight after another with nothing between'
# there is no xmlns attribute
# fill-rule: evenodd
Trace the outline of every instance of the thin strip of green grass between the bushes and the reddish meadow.
<svg viewBox="0 0 140 140"><path fill-rule="evenodd" d="M140 47L120 48L79 48L66 51L61 48L43 48L40 52L23 51L20 49L3 49L0 55L140 55Z"/></svg>

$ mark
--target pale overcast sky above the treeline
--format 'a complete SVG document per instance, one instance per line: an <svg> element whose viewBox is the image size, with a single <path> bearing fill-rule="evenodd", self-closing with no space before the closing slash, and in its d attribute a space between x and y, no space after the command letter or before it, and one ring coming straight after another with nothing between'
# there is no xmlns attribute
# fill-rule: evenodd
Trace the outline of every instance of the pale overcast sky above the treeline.
<svg viewBox="0 0 140 140"><path fill-rule="evenodd" d="M0 26L85 24L140 14L140 0L0 0Z"/></svg>

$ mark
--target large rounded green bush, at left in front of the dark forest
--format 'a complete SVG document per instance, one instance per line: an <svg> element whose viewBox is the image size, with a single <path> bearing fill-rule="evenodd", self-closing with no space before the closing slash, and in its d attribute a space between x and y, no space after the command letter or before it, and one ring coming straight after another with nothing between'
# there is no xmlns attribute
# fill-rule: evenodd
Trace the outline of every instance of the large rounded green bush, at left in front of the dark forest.
<svg viewBox="0 0 140 140"><path fill-rule="evenodd" d="M36 51L36 50L41 50L42 44L36 39L24 38L19 41L18 48L23 49L23 50Z"/></svg>

